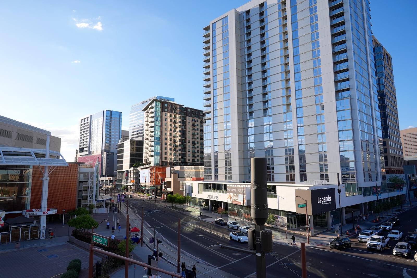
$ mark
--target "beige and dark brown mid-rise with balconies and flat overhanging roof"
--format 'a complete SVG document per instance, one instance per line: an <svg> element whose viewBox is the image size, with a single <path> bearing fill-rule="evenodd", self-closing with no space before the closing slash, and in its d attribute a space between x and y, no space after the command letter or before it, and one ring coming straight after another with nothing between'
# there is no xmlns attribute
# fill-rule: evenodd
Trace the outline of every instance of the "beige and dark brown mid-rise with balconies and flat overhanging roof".
<svg viewBox="0 0 417 278"><path fill-rule="evenodd" d="M202 110L154 98L143 111L143 163L149 166L203 165Z"/></svg>

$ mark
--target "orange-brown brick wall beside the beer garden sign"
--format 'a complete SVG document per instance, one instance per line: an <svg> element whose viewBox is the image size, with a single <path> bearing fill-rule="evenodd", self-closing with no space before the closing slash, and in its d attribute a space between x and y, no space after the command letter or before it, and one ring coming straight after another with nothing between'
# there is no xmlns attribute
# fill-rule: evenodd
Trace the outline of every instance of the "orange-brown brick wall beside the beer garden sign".
<svg viewBox="0 0 417 278"><path fill-rule="evenodd" d="M44 167L42 167L44 170ZM40 208L42 197L43 173L38 166L33 166L32 190L30 208ZM63 214L77 208L78 193L78 164L68 163L68 167L56 167L49 175L48 206L58 209L57 214Z"/></svg>

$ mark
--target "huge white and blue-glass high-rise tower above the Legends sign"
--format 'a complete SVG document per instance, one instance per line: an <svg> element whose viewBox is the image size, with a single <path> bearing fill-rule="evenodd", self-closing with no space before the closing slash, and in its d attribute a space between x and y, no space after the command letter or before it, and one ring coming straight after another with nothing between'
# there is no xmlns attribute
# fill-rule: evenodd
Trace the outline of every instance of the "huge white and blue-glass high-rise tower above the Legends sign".
<svg viewBox="0 0 417 278"><path fill-rule="evenodd" d="M386 186L368 0L254 0L203 30L204 180L265 157L270 182Z"/></svg>

